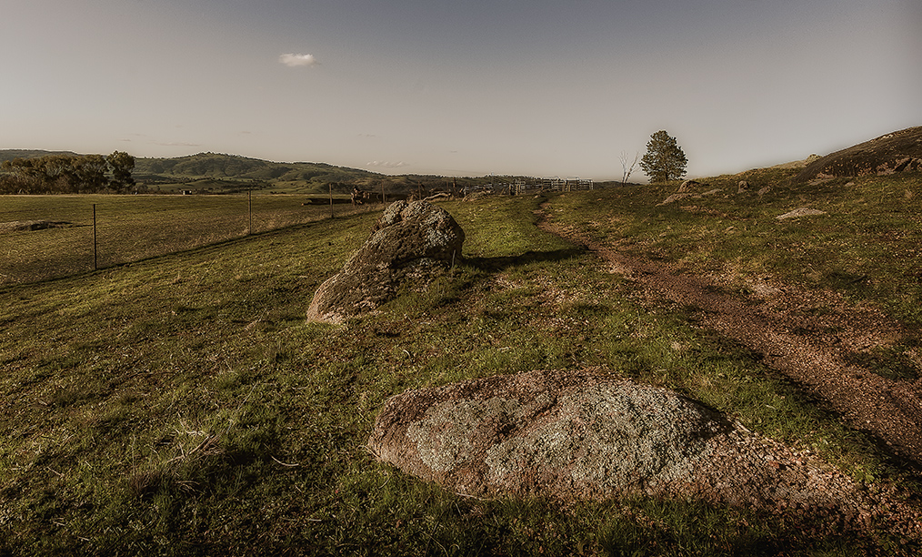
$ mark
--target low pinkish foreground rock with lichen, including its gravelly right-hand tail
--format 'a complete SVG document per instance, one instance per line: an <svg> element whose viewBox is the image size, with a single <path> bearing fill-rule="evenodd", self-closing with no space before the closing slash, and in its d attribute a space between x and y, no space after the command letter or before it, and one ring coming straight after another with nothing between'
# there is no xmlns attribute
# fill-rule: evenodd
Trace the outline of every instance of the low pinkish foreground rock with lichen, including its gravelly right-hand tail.
<svg viewBox="0 0 922 557"><path fill-rule="evenodd" d="M609 373L537 371L389 398L372 453L472 496L697 497L837 505L852 483L663 388Z"/></svg>

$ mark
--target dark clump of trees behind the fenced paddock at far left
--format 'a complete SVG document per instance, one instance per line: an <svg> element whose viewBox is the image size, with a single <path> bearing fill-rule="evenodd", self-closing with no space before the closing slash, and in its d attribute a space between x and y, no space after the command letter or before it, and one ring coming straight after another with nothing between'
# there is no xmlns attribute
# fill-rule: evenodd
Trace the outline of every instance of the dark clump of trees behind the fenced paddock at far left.
<svg viewBox="0 0 922 557"><path fill-rule="evenodd" d="M5 160L0 194L125 193L135 185L135 158L122 151L102 155L53 154Z"/></svg>

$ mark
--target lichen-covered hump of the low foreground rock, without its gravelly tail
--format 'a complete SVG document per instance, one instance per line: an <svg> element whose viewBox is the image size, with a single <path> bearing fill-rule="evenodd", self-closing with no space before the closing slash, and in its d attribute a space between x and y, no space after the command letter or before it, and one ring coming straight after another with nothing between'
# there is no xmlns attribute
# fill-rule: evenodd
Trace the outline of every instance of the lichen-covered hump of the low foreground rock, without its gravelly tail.
<svg viewBox="0 0 922 557"><path fill-rule="evenodd" d="M599 373L530 372L390 398L372 451L458 492L658 492L729 425L665 389Z"/></svg>

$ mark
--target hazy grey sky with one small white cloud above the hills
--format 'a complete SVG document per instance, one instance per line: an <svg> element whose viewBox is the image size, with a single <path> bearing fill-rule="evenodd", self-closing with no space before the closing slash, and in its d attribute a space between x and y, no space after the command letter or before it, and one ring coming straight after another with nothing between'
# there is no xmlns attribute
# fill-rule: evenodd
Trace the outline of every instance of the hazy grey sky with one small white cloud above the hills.
<svg viewBox="0 0 922 557"><path fill-rule="evenodd" d="M600 180L665 129L739 172L922 125L920 36L919 0L9 0L0 148Z"/></svg>

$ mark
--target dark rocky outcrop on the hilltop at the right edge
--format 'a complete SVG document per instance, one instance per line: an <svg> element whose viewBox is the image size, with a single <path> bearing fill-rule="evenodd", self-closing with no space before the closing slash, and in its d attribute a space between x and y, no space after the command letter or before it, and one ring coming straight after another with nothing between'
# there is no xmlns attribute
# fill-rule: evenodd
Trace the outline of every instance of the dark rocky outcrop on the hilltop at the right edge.
<svg viewBox="0 0 922 557"><path fill-rule="evenodd" d="M918 171L922 171L922 126L880 136L812 160L794 182Z"/></svg>

